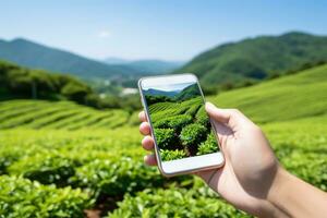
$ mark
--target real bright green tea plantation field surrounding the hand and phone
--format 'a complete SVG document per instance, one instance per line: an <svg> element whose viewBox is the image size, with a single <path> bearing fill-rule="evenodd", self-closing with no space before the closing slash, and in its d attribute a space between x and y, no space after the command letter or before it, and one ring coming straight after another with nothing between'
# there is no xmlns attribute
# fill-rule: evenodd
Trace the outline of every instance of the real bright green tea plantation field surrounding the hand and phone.
<svg viewBox="0 0 327 218"><path fill-rule="evenodd" d="M257 121L281 164L327 191L327 65L208 99ZM197 178L146 167L129 123L123 110L1 101L0 217L249 217Z"/></svg>

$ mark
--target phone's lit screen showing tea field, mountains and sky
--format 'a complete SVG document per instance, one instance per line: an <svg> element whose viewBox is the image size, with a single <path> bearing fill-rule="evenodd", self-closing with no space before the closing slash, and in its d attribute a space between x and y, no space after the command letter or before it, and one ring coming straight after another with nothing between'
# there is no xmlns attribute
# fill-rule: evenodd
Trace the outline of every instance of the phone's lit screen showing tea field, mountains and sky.
<svg viewBox="0 0 327 218"><path fill-rule="evenodd" d="M198 83L142 87L161 161L219 152Z"/></svg>

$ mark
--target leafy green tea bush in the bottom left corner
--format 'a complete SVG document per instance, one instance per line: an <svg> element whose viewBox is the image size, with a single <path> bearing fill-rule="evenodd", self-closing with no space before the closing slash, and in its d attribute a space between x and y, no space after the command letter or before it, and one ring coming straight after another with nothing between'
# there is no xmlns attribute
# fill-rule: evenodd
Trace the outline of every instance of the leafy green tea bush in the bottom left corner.
<svg viewBox="0 0 327 218"><path fill-rule="evenodd" d="M17 177L0 177L0 217L83 217L93 201L80 189L56 189Z"/></svg>

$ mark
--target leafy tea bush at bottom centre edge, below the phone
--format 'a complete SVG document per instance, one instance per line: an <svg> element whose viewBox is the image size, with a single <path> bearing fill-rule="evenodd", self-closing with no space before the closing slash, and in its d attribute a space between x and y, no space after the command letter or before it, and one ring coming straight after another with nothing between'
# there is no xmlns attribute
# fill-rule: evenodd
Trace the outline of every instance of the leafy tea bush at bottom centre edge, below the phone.
<svg viewBox="0 0 327 218"><path fill-rule="evenodd" d="M199 195L196 191L177 189L145 190L135 197L125 195L119 209L109 214L118 217L249 217L221 199Z"/></svg>

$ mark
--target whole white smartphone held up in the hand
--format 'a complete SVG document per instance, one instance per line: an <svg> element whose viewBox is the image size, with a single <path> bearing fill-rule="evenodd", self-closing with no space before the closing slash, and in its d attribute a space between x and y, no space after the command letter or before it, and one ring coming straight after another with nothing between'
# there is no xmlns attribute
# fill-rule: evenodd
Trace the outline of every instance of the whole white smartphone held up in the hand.
<svg viewBox="0 0 327 218"><path fill-rule="evenodd" d="M205 111L204 95L195 75L143 77L138 88L155 141L158 168L164 175L223 165L217 134Z"/></svg>

